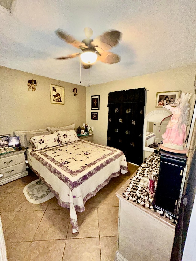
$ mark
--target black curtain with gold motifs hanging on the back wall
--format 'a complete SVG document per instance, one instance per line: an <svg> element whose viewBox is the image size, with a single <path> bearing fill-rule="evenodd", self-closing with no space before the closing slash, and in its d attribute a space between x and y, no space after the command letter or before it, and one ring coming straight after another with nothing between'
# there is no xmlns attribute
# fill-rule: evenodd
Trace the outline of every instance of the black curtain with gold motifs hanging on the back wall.
<svg viewBox="0 0 196 261"><path fill-rule="evenodd" d="M143 162L145 88L109 93L107 146L122 150L128 162Z"/></svg>

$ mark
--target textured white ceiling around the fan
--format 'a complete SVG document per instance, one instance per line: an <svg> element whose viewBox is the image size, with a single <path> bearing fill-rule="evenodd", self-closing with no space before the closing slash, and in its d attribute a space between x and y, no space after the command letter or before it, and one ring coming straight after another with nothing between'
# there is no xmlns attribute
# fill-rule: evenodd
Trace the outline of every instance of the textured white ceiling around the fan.
<svg viewBox="0 0 196 261"><path fill-rule="evenodd" d="M96 62L90 85L121 80L195 63L196 1L194 0L0 0L0 65L80 84L79 58L55 57L79 49L55 35L60 28L78 40L83 29L92 38L116 29L123 36L112 51L117 64ZM4 5L6 7L6 5ZM79 50L80 51L80 50ZM88 86L88 70L81 80Z"/></svg>

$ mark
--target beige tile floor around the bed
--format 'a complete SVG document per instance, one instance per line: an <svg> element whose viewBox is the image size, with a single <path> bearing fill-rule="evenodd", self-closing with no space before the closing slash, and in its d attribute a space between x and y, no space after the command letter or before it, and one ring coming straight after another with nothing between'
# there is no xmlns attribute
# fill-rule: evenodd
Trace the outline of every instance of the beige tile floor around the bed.
<svg viewBox="0 0 196 261"><path fill-rule="evenodd" d="M0 186L0 215L8 260L110 261L117 250L118 198L115 192L137 170L111 179L77 213L79 233L72 234L70 211L56 198L29 203L23 188L37 176L29 175Z"/></svg>

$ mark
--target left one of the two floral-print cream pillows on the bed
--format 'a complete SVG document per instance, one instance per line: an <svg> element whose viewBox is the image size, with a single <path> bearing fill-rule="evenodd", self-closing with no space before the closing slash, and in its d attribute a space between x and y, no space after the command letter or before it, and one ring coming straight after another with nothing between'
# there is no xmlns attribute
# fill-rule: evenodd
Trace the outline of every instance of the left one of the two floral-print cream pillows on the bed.
<svg viewBox="0 0 196 261"><path fill-rule="evenodd" d="M31 137L30 143L34 144L35 151L57 146L58 136L56 133Z"/></svg>

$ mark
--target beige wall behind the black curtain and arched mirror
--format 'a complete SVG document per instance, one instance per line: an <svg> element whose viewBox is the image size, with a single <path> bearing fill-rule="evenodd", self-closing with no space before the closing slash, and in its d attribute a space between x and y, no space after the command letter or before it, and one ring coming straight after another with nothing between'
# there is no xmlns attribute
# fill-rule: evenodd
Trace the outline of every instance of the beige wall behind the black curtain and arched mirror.
<svg viewBox="0 0 196 261"><path fill-rule="evenodd" d="M181 90L184 92L194 93L195 73L196 64L87 87L86 120L90 126L94 127L94 141L104 145L107 142L107 102L108 93L110 91L113 92L145 87L148 89L145 106L146 115L153 110L158 110L155 108L157 92ZM100 95L100 110L98 110L98 121L91 120L91 95Z"/></svg>

